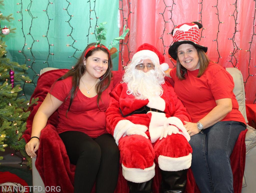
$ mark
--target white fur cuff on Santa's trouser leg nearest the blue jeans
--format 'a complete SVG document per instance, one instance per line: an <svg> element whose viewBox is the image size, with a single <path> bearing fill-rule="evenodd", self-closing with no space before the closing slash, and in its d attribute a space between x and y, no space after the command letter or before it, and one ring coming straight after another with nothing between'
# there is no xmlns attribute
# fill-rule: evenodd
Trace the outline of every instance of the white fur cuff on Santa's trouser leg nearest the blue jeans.
<svg viewBox="0 0 256 193"><path fill-rule="evenodd" d="M158 165L164 171L180 171L188 169L191 166L192 154L179 158L171 158L160 155L158 157Z"/></svg>

